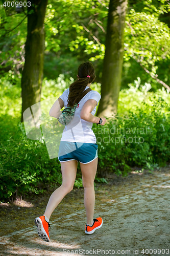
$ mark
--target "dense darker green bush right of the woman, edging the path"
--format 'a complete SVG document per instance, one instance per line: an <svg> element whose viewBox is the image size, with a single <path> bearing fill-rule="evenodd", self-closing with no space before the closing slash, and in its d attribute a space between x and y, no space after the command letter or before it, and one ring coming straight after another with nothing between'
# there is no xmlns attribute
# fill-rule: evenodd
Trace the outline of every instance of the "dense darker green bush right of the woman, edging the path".
<svg viewBox="0 0 170 256"><path fill-rule="evenodd" d="M169 111L155 96L149 103L141 102L135 113L117 114L105 126L94 126L100 175L105 177L108 170L126 175L133 166L164 166L170 159Z"/></svg>

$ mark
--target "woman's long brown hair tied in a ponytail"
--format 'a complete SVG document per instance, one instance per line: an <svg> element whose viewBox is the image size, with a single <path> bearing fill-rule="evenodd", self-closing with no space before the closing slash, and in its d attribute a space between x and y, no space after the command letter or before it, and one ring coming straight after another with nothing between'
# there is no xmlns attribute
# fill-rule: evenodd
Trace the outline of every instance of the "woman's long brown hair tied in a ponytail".
<svg viewBox="0 0 170 256"><path fill-rule="evenodd" d="M94 79L95 70L92 63L89 61L82 63L78 68L78 80L69 86L68 106L74 106L76 103L79 103L87 84L91 83Z"/></svg>

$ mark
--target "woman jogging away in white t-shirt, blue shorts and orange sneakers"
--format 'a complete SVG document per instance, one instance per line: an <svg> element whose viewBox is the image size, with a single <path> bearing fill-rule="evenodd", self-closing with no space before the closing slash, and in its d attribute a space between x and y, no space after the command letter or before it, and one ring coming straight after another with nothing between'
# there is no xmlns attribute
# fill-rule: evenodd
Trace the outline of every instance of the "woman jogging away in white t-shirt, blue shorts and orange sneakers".
<svg viewBox="0 0 170 256"><path fill-rule="evenodd" d="M51 195L44 215L35 219L38 235L46 242L50 241L48 232L50 217L57 205L74 187L78 162L80 162L84 187L84 205L87 218L85 233L92 234L103 224L102 218L93 219L94 178L98 165L98 145L91 127L93 123L104 125L106 122L106 118L94 116L96 105L101 98L98 92L89 91L94 79L95 71L92 64L89 61L82 63L78 68L78 80L70 84L69 89L58 98L59 104L55 102L49 113L50 116L58 118L58 113L63 106L65 108L67 106L72 107L78 103L74 118L65 125L60 142L58 159L61 163L62 184ZM86 92L86 95L82 97L87 89L89 89L88 93Z"/></svg>

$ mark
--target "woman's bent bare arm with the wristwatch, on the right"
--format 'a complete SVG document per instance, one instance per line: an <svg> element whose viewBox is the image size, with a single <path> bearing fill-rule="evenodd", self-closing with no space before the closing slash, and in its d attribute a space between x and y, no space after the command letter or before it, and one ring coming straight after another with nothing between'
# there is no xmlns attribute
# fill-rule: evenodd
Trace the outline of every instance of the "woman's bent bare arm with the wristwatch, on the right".
<svg viewBox="0 0 170 256"><path fill-rule="evenodd" d="M83 105L83 108L82 108L81 113L80 113L80 117L82 119L84 119L85 121L88 121L88 122L99 123L100 118L96 117L96 116L93 116L91 114L91 112L93 111L93 109L95 108L97 103L98 102L95 99L87 100ZM102 125L104 125L105 122L106 122L106 118L104 118L104 117L101 117L101 118L103 120Z"/></svg>

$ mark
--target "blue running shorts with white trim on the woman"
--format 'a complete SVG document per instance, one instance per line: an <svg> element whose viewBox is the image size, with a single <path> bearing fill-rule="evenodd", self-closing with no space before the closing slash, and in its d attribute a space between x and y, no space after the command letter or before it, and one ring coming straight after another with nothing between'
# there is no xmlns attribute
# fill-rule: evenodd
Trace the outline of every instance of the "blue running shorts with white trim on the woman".
<svg viewBox="0 0 170 256"><path fill-rule="evenodd" d="M80 163L90 163L98 157L96 143L61 141L59 148L59 161L67 162L77 160Z"/></svg>

